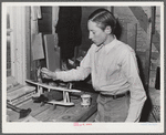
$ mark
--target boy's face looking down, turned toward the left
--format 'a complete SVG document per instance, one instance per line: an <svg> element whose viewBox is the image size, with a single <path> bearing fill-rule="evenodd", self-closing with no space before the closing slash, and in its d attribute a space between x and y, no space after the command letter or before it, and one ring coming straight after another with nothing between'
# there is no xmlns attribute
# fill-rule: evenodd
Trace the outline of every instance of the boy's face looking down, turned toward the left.
<svg viewBox="0 0 166 135"><path fill-rule="evenodd" d="M87 22L89 29L89 39L92 40L97 46L106 42L107 33L105 30L103 31L101 28L97 27L96 22L89 21Z"/></svg>

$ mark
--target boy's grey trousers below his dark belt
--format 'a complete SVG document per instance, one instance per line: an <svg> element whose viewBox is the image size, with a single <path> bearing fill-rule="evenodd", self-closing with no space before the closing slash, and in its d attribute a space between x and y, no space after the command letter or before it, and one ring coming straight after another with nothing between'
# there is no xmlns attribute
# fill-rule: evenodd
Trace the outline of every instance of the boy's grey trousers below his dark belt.
<svg viewBox="0 0 166 135"><path fill-rule="evenodd" d="M125 122L129 108L129 95L113 98L98 95L95 122Z"/></svg>

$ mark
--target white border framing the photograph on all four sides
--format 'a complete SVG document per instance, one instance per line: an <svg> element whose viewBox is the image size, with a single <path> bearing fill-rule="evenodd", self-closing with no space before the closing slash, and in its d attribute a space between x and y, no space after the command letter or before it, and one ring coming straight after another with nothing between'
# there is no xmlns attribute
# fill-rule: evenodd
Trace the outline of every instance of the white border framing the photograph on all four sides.
<svg viewBox="0 0 166 135"><path fill-rule="evenodd" d="M6 44L6 8L8 6L158 6L160 7L160 123L92 123L74 126L73 123L7 123L6 122L6 45L2 45L2 133L164 133L164 2L2 2L1 44Z"/></svg>

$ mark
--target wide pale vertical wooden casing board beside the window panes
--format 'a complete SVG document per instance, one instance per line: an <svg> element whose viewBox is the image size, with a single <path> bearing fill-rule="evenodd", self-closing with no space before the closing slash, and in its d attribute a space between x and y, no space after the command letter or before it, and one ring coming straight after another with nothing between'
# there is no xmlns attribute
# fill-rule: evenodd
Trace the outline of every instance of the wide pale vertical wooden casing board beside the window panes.
<svg viewBox="0 0 166 135"><path fill-rule="evenodd" d="M25 8L11 7L11 75L14 76L20 84L23 84L25 79Z"/></svg>

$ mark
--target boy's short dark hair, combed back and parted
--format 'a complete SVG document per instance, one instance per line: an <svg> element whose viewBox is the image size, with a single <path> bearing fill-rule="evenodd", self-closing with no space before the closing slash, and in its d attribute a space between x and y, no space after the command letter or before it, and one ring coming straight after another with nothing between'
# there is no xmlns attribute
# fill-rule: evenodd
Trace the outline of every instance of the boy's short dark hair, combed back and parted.
<svg viewBox="0 0 166 135"><path fill-rule="evenodd" d="M90 14L89 20L96 22L102 30L105 30L107 25L112 28L112 33L116 28L116 19L112 12L106 9L97 9Z"/></svg>

